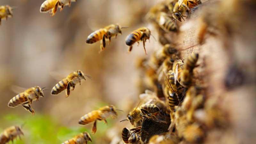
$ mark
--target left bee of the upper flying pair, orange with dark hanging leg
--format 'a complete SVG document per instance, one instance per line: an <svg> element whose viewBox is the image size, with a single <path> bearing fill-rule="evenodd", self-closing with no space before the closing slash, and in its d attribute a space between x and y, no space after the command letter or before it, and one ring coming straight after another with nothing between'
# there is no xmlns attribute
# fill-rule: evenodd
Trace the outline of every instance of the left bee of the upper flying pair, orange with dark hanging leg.
<svg viewBox="0 0 256 144"><path fill-rule="evenodd" d="M106 26L105 28L100 28L94 32L92 32L86 39L87 44L93 44L100 40L100 52L103 51L106 47L106 39L111 42L111 37L117 37L118 34L122 34L122 29L128 27L121 27L119 24L111 24Z"/></svg>

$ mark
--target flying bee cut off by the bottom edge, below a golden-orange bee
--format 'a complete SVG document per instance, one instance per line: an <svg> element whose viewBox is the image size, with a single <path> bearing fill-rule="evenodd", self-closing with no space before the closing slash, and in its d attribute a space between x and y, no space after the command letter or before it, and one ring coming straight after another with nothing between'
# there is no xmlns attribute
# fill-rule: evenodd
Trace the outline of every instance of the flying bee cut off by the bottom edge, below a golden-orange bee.
<svg viewBox="0 0 256 144"><path fill-rule="evenodd" d="M92 138L88 132L82 132L76 135L74 138L63 142L62 144L87 144L87 141L92 141Z"/></svg>

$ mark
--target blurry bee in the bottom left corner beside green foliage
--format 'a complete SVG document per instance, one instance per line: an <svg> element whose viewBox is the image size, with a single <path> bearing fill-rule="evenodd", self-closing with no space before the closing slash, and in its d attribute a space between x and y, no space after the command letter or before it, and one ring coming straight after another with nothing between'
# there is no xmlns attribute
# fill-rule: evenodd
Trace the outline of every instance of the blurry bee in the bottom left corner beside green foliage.
<svg viewBox="0 0 256 144"><path fill-rule="evenodd" d="M20 135L24 134L19 126L8 127L0 134L0 144L6 144L10 140L13 142L16 137L20 138Z"/></svg>

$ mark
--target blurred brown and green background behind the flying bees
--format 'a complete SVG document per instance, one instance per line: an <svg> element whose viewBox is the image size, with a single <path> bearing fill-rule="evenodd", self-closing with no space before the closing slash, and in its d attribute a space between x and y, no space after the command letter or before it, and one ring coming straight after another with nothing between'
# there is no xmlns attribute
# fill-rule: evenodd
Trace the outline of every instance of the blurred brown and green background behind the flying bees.
<svg viewBox="0 0 256 144"><path fill-rule="evenodd" d="M14 143L61 143L80 132L91 134L92 124L79 125L79 118L101 106L113 104L124 112L120 112L115 120L107 119L108 124L98 122L98 130L92 136L92 143L109 143L110 139L106 137L109 128L126 117L132 98L138 97L135 83L139 75L134 63L137 57L145 55L142 43L138 47L135 44L128 54L124 39L141 26L151 28L144 23L144 17L156 1L78 0L71 7L64 7L62 12L58 10L53 17L39 12L43 2L0 2L0 5L17 7L13 17L2 20L0 26L0 132L11 125L25 123L25 136ZM129 28L113 38L100 54L100 42L85 43L93 31L116 23ZM152 31L152 34L156 37L156 32ZM150 44L146 43L148 54L157 45L151 38ZM92 80L82 81L68 98L65 98L65 92L50 94L61 78L78 69L92 76ZM11 90L12 85L24 88L38 85L49 89L44 92L44 98L32 103L35 116L22 106L7 106L16 95Z"/></svg>

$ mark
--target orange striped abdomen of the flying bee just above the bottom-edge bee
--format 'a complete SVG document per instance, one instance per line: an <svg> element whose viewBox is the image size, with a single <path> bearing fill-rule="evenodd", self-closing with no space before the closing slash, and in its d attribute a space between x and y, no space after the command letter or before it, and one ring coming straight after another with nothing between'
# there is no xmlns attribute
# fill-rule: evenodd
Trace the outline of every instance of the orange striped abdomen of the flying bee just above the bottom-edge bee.
<svg viewBox="0 0 256 144"><path fill-rule="evenodd" d="M101 119L100 117L100 111L99 110L93 110L92 112L82 116L80 120L78 121L78 124L89 124L91 122L94 122L97 119Z"/></svg>

